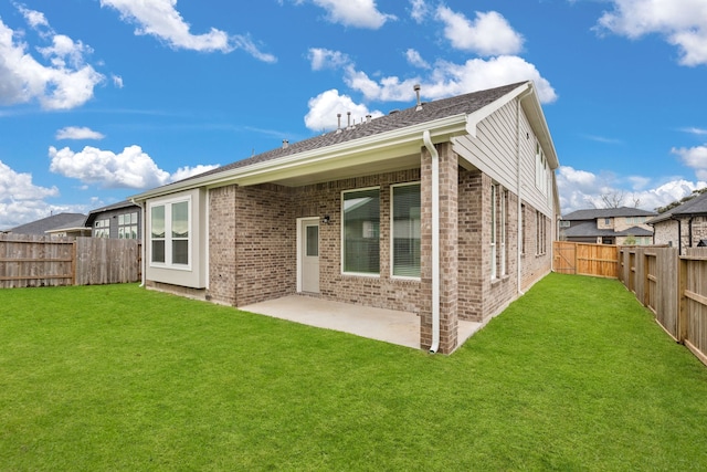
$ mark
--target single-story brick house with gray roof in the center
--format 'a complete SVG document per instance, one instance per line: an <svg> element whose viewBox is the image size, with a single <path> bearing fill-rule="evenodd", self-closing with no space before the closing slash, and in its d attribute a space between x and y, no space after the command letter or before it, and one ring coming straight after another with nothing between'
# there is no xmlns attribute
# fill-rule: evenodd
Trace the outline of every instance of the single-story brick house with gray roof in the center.
<svg viewBox="0 0 707 472"><path fill-rule="evenodd" d="M558 167L531 82L391 113L134 197L148 287L414 312L451 353L551 270Z"/></svg>

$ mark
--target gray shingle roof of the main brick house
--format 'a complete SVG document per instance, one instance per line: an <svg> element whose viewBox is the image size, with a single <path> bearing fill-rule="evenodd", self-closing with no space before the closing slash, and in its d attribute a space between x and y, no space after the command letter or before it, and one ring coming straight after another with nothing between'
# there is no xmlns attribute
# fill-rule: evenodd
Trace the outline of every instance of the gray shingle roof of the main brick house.
<svg viewBox="0 0 707 472"><path fill-rule="evenodd" d="M434 102L424 103L421 111L416 111L415 105L397 113L391 113L386 116L373 118L369 123L357 124L350 128L346 128L346 118L344 118L344 128L340 130L326 133L320 136L315 136L309 139L289 144L287 147L275 148L266 153L255 155L247 159L236 160L235 162L221 166L217 169L190 177L184 180L215 175L239 167L245 167L257 162L337 145L340 143L351 141L367 136L373 136L377 134L391 132L425 122L432 122L434 119L446 118L461 114L469 114L495 102L496 99L500 98L502 96L506 95L507 93L514 91L525 83L526 82L518 82L515 84L504 85L487 91L473 92L451 98L442 98Z"/></svg>

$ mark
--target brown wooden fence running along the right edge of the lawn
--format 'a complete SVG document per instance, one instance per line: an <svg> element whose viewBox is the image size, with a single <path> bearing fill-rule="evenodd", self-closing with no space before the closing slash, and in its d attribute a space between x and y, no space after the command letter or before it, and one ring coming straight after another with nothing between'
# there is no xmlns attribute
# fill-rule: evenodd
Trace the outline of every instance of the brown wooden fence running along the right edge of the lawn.
<svg viewBox="0 0 707 472"><path fill-rule="evenodd" d="M655 314L655 321L707 365L707 251L620 249L619 279Z"/></svg>

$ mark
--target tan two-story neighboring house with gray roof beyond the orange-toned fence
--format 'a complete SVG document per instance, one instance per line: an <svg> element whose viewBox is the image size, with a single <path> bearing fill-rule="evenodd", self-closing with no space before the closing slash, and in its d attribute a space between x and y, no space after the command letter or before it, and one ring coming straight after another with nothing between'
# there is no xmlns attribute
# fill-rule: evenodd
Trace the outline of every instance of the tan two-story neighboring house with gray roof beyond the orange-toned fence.
<svg viewBox="0 0 707 472"><path fill-rule="evenodd" d="M577 210L562 217L559 235L562 241L648 245L653 228L647 221L656 214L629 207Z"/></svg>

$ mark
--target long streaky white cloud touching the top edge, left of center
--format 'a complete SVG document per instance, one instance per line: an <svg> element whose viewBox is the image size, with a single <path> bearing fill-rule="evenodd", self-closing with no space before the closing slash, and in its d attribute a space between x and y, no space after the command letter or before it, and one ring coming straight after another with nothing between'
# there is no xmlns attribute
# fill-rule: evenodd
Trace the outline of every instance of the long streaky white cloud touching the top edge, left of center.
<svg viewBox="0 0 707 472"><path fill-rule="evenodd" d="M173 49L224 53L242 49L260 61L275 62L275 56L260 51L247 35L229 36L215 28L192 34L191 25L177 11L177 0L101 0L101 6L114 8L124 20L136 23L135 34L159 38Z"/></svg>

